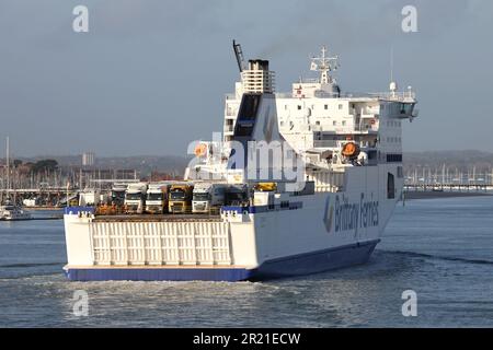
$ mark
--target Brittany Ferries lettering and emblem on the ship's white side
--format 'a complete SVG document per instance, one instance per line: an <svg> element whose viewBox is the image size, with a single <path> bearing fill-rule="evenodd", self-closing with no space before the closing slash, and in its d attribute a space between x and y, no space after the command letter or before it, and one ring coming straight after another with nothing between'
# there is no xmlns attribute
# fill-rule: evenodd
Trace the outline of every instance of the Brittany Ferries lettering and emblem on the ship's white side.
<svg viewBox="0 0 493 350"><path fill-rule="evenodd" d="M329 233L332 232L332 224L335 232L378 226L378 201L372 200L372 194L370 200L366 200L365 194L362 194L359 202L349 202L346 196L336 195L334 205L331 205L329 196L323 223Z"/></svg>

